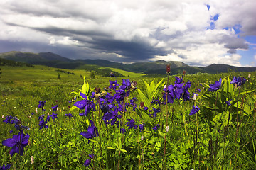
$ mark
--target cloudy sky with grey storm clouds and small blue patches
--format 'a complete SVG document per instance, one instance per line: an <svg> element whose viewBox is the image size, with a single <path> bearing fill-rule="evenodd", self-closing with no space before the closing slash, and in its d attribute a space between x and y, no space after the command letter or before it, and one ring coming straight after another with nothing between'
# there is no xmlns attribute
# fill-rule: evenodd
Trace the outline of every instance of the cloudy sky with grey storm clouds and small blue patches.
<svg viewBox="0 0 256 170"><path fill-rule="evenodd" d="M0 53L256 67L255 0L1 0Z"/></svg>

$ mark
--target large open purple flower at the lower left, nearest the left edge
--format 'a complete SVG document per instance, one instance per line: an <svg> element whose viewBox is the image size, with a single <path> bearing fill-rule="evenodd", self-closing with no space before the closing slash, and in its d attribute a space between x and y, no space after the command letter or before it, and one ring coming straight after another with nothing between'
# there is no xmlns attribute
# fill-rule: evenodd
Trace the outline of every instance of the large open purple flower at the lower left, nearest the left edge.
<svg viewBox="0 0 256 170"><path fill-rule="evenodd" d="M28 139L29 135L24 135L23 130L18 133L18 135L13 135L12 138L6 139L2 142L2 144L6 147L12 147L10 154L11 157L14 155L14 153L23 155L24 148L28 145Z"/></svg>

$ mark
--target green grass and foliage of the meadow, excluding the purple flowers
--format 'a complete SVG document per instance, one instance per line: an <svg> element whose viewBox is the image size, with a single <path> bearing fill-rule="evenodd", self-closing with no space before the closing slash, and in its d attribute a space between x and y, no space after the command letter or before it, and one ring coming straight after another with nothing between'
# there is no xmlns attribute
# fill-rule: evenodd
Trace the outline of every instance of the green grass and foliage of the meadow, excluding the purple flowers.
<svg viewBox="0 0 256 170"><path fill-rule="evenodd" d="M80 75L87 77L93 91L95 91L95 87L103 89L109 86L109 80L117 79L117 83L121 85L123 77L96 76L95 79L89 79L90 72L75 69L67 70L74 72L75 75L60 73L61 79L58 80L58 72L55 70L57 69L45 66L35 66L34 68L1 67L1 116L17 116L21 119L22 125L28 125L31 130L25 130L24 132L30 135L31 145L25 147L22 157L19 157L18 154L10 157L9 150L11 148L0 143L0 165L13 164L11 169L88 169L83 164L89 158L88 154L93 153L95 159L92 160L90 168L94 167L95 169L117 169L117 164L120 164L119 169L164 169L163 166L166 166L166 169L203 170L256 168L256 97L255 92L249 94L250 90L255 89L256 72L251 73L250 81L247 81L239 91L241 92L240 96L233 96L232 108L228 108L225 104L227 98L231 99L228 97L230 94L225 91L219 91L218 95L216 92L212 94L207 90L208 84L214 84L220 77L224 78L226 76L229 76L230 79L233 79L233 76L247 78L247 72L186 75L185 81L192 82L189 89L191 94L197 87L201 88L196 102L193 99L184 102L175 100L174 103L168 103L167 106L161 105L159 106L161 112L157 113L156 118L143 115L142 111L139 111L139 113L132 111L132 107L129 107L122 115L122 121L124 122L122 126L127 129L127 132L122 135L119 133L121 126L119 128L116 125L106 126L101 121L104 113L101 112L98 105L96 105L96 112L90 111L87 117L81 117L78 115L82 112L81 110L70 111L74 102L70 104L68 101L73 97L72 91L78 92L82 88L84 80ZM149 93L155 94L154 88L151 87L151 92L146 92L146 86L144 86L142 78L137 77L138 74L125 74L129 75L131 81L133 79L137 81L137 87L142 91L142 94L146 96L150 96ZM144 78L147 83L150 83L152 79ZM159 81L161 81L161 78L155 79L156 83ZM174 84L174 81L174 77L169 77L168 84ZM164 82L167 84L166 78L164 78ZM159 98L163 93L162 88L157 94ZM222 87L222 89L227 88ZM247 92L242 94L244 89ZM234 91L235 94L239 93L238 89ZM112 95L114 94L112 90L109 92L112 92ZM233 91L231 92L233 93ZM140 102L143 101L142 94L139 94L138 91L132 91L129 98L124 101L129 102L130 99L137 97L139 99L137 105L139 106ZM78 98L77 101L80 100L81 98ZM237 100L239 101L238 105L235 103ZM50 111L52 104L59 105L58 111L55 111L58 118L55 122L50 120L48 129L39 130L38 116L42 114L41 111L31 115L32 112L35 112L38 101L46 101L46 111L44 112L46 116L53 112ZM196 115L188 116L194 103L198 105L200 111ZM217 105L216 109L215 104ZM244 107L245 110L238 109L237 106L238 108ZM158 106L151 105L149 110L152 110L153 107ZM65 116L70 112L74 116L71 119ZM230 126L225 135L225 125L227 125L229 112L232 113L232 118L230 118ZM169 113L168 119L166 117L167 113ZM236 126L237 113L239 115L238 120L241 121L239 129ZM215 114L218 115L216 117L218 131L215 131ZM139 115L143 115L143 118ZM140 132L139 128L128 130L127 118L133 118L136 125L145 123L145 130L143 132ZM94 141L90 143L80 135L80 132L86 132L88 126L90 126L89 119L95 122L95 126L100 133L100 137L93 138ZM14 125L5 124L2 120L4 119L1 119L0 122L0 142L18 134ZM156 124L161 126L157 132L152 130ZM165 130L166 124L169 125L169 132ZM14 133L10 134L10 130L14 130ZM198 133L196 133L196 130L198 130ZM141 140L142 135L144 140ZM235 140L235 137L238 140ZM198 140L198 145L196 140ZM210 141L213 141L212 145L210 145ZM118 147L120 148L118 149ZM166 149L166 165L163 164L164 149ZM225 155L223 150L225 150ZM235 155L237 156L235 157ZM35 164L31 164L31 156L35 157ZM140 162L139 158L141 158Z"/></svg>

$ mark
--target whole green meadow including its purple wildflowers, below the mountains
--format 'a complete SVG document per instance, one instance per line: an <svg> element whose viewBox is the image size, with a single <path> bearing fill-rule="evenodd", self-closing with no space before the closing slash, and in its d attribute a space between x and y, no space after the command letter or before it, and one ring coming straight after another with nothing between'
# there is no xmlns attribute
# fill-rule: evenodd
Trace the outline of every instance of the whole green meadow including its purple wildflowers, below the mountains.
<svg viewBox="0 0 256 170"><path fill-rule="evenodd" d="M56 70L1 67L0 169L256 169L256 72Z"/></svg>

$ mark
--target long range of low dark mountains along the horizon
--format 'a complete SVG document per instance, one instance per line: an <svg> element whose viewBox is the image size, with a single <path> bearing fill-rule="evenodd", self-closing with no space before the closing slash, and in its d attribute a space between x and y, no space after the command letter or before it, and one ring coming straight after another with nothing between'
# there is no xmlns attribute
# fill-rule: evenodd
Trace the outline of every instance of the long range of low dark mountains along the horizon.
<svg viewBox="0 0 256 170"><path fill-rule="evenodd" d="M166 64L171 65L171 74L182 73L186 70L187 74L195 74L198 72L216 74L220 72L253 72L256 67L235 67L227 64L211 64L207 67L191 67L183 62L166 62L158 60L155 62L137 62L132 64L123 64L119 62L110 62L108 60L72 60L52 52L4 52L0 53L0 59L13 60L16 62L25 62L28 64L41 64L49 67L56 67L61 69L97 69L98 67L112 67L122 69L129 72L137 72L144 74L166 74ZM96 70L97 71L97 70Z"/></svg>

